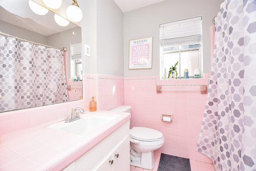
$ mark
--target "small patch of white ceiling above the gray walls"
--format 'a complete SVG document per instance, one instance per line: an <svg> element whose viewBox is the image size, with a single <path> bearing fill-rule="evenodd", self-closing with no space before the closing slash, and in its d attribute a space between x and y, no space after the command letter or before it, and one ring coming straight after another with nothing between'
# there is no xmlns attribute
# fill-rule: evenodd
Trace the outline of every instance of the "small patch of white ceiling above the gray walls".
<svg viewBox="0 0 256 171"><path fill-rule="evenodd" d="M114 0L122 12L128 12L165 0Z"/></svg>

